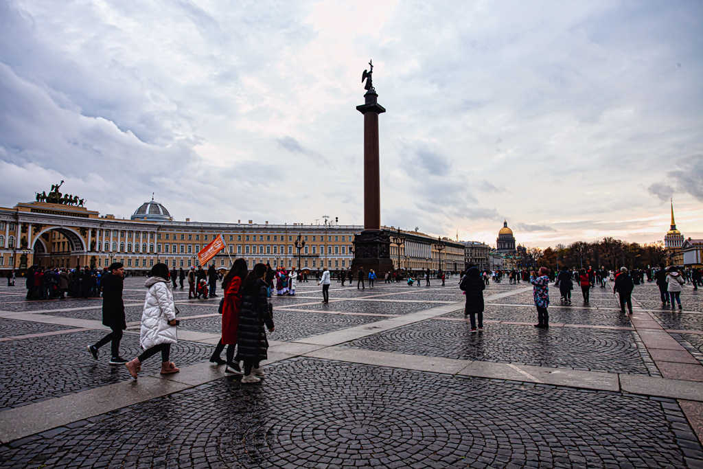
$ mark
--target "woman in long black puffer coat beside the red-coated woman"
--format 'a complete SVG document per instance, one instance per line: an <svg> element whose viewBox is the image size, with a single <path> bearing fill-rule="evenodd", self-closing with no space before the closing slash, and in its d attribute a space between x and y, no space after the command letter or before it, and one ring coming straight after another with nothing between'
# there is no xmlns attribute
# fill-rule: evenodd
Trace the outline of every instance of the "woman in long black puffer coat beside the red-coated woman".
<svg viewBox="0 0 703 469"><path fill-rule="evenodd" d="M244 360L242 383L258 383L264 372L259 363L269 356L269 341L266 330L273 332L273 316L266 295L268 285L264 281L266 265L256 264L245 279L242 292L242 307L237 331L238 359Z"/></svg>

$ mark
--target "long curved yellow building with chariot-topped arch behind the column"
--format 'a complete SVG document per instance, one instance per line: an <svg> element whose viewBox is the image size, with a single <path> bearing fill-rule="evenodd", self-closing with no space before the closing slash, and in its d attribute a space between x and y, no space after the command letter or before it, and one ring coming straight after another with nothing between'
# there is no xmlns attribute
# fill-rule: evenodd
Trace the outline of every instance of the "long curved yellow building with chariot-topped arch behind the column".
<svg viewBox="0 0 703 469"><path fill-rule="evenodd" d="M212 262L228 269L232 259L244 257L249 266L269 262L316 270L347 269L354 258L354 235L363 226L325 224L202 223L176 221L160 203L150 200L130 219L83 207L83 200L51 198L37 194L31 203L0 207L0 272L44 267L93 266L122 262L134 272L148 271L156 262L169 267L198 265L198 251L220 233L226 248ZM396 233L396 229L387 229ZM460 270L464 249L460 243L432 238L418 232L402 232L404 243L391 245L395 268ZM440 246L439 248L437 246ZM440 264L441 262L441 264Z"/></svg>

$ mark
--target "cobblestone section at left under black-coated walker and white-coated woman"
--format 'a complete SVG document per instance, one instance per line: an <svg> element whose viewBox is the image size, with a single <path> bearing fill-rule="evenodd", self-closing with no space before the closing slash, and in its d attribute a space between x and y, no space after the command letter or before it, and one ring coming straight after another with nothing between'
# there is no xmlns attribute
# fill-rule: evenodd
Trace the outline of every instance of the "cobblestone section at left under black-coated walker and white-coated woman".
<svg viewBox="0 0 703 469"><path fill-rule="evenodd" d="M86 345L107 332L86 330L0 342L0 410L131 379L124 365L108 364L110 343L100 349L97 361L86 350ZM120 352L129 359L140 354L139 336L124 334ZM171 359L179 366L204 361L211 354L211 346L198 342L181 340L171 347ZM143 364L143 373L156 373L160 366L160 356L153 356Z"/></svg>

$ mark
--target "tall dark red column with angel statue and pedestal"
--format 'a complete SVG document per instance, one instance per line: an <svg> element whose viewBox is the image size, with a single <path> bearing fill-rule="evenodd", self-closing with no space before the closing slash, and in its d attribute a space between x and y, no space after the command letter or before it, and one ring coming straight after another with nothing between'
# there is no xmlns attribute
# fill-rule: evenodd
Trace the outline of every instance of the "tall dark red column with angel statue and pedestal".
<svg viewBox="0 0 703 469"><path fill-rule="evenodd" d="M390 258L390 238L381 231L381 188L378 169L378 115L385 113L385 108L378 103L378 94L373 88L371 75L373 63L369 61L370 70L364 70L361 81L366 81L365 104L356 106L363 114L363 231L354 237L354 262L352 269L359 271L363 267L368 276L373 269L378 276L393 270Z"/></svg>

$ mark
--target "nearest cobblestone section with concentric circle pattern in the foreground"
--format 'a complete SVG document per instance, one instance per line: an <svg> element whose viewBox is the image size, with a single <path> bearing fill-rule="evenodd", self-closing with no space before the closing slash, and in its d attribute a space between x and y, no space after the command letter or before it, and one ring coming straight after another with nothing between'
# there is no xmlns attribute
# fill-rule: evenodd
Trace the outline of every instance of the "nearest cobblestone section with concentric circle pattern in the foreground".
<svg viewBox="0 0 703 469"><path fill-rule="evenodd" d="M672 399L294 359L30 437L6 467L693 467ZM299 375L325 376L325 384ZM394 383L389 386L388 383Z"/></svg>

